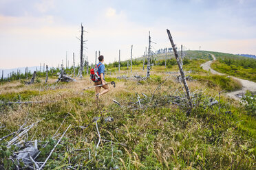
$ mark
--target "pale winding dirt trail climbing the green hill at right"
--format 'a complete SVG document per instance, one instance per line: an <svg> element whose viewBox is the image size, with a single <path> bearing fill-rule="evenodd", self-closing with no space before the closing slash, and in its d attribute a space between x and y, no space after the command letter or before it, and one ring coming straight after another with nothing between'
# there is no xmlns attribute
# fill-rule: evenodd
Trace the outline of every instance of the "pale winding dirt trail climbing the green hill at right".
<svg viewBox="0 0 256 170"><path fill-rule="evenodd" d="M201 64L202 69L204 69L205 71L211 71L211 73L213 73L213 74L225 75L225 74L219 73L219 72L211 69L211 63L214 60L216 60L216 58L213 54L211 54L211 56L213 57L213 60L205 62L204 64ZM233 77L233 76L231 76L231 77ZM242 93L245 93L246 90L250 90L250 91L253 91L253 92L256 91L256 83L255 82L250 82L248 80L239 79L237 77L233 77L233 79L238 80L239 82L242 83L242 89L237 90L237 91L233 91L231 93L226 93L226 95L228 95L229 97L232 97L233 99L236 99L236 100L240 100L240 98L238 96Z"/></svg>

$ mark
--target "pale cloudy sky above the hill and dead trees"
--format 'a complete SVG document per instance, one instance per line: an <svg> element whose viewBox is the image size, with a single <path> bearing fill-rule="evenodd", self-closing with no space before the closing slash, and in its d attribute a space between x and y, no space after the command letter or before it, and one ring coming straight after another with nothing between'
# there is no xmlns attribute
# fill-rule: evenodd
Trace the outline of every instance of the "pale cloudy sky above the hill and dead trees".
<svg viewBox="0 0 256 170"><path fill-rule="evenodd" d="M81 24L90 63L178 47L256 54L255 0L0 0L0 69L80 61Z"/></svg>

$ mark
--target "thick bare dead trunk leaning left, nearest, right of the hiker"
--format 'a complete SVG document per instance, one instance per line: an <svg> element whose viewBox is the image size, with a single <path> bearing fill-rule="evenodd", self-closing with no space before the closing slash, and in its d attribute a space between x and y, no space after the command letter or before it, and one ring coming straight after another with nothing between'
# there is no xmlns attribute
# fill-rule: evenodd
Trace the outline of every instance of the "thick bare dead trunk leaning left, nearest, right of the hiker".
<svg viewBox="0 0 256 170"><path fill-rule="evenodd" d="M180 58L179 58L179 56L178 56L178 53L177 53L177 50L176 50L176 48L175 48L175 44L174 44L174 42L173 42L173 38L171 37L171 33L170 33L169 29L167 29L167 34L168 34L168 36L169 36L169 40L170 40L170 42L171 42L171 46L173 47L174 56L175 56L175 58L176 58L176 60L177 60L177 63L178 63L179 69L180 69L180 75L181 75L181 77L182 77L182 82L183 82L184 87L185 87L185 89L186 89L186 97L187 97L187 99L189 100L189 106L190 106L189 113L190 113L191 109L193 108L193 105L192 105L192 102L191 102L191 96L190 96L190 92L189 92L189 86L188 86L188 84L186 83L186 77L185 77L184 71L183 71L183 69L182 69L182 64L181 64L181 62L180 62Z"/></svg>

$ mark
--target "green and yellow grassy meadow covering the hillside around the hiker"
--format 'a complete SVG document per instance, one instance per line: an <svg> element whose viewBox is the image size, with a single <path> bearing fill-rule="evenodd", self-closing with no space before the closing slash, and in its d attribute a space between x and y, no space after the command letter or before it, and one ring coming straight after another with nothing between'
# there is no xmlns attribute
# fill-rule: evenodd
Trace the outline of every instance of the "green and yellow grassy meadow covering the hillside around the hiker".
<svg viewBox="0 0 256 170"><path fill-rule="evenodd" d="M58 84L54 75L47 84L43 76L32 85L24 85L23 80L1 82L0 101L51 102L0 104L0 138L23 123L43 119L26 136L28 141L39 140L41 154L36 160L43 162L71 125L45 169L255 169L255 116L239 101L220 93L242 85L202 70L200 64L212 60L209 53L187 51L184 71L190 77L193 101L188 114L186 93L173 60L170 53L165 67L164 59L156 58L147 80L134 77L147 74L142 60L134 63L132 73L127 62L120 72L115 63L106 64L106 80L115 81L116 88L110 85L109 93L98 102L94 88L83 90L93 86L89 75ZM139 103L138 99L143 100ZM211 104L215 100L219 103ZM100 117L97 124L95 117ZM114 121L106 122L105 117ZM0 169L14 169L18 164L9 159L17 151L17 147L6 147L11 138L0 141Z"/></svg>

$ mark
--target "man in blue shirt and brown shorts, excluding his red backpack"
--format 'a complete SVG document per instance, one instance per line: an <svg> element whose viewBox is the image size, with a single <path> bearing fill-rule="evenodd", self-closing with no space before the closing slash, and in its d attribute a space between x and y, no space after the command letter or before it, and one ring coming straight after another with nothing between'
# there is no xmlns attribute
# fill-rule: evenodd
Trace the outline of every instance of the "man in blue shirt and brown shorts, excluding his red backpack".
<svg viewBox="0 0 256 170"><path fill-rule="evenodd" d="M104 56L99 56L98 57L98 64L96 64L96 67L98 67L98 74L100 75L100 79L98 82L94 82L94 86L102 84L103 86L97 86L95 87L96 90L96 99L100 97L100 95L104 95L109 91L109 86L107 85L107 82L105 82L105 65L103 64L104 62ZM100 88L103 87L104 90L100 92Z"/></svg>

